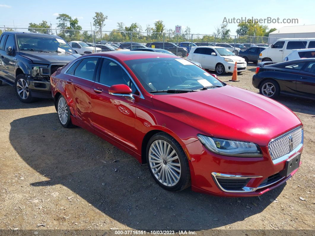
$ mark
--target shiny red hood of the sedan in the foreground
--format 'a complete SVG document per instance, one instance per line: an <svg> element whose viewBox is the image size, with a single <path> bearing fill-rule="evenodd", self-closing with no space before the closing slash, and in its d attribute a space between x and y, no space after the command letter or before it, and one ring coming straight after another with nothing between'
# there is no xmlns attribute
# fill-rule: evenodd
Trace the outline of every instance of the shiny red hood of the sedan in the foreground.
<svg viewBox="0 0 315 236"><path fill-rule="evenodd" d="M152 102L157 110L185 121L201 134L260 146L267 146L272 138L301 125L300 119L281 103L231 85L152 95Z"/></svg>

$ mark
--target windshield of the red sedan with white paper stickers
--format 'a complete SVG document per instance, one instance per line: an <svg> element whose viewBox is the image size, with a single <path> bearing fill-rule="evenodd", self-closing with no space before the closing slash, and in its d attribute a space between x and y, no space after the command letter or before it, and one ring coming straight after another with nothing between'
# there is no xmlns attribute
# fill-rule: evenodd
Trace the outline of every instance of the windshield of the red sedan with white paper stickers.
<svg viewBox="0 0 315 236"><path fill-rule="evenodd" d="M125 63L149 93L154 90L223 86L212 75L185 59L146 58L127 60Z"/></svg>

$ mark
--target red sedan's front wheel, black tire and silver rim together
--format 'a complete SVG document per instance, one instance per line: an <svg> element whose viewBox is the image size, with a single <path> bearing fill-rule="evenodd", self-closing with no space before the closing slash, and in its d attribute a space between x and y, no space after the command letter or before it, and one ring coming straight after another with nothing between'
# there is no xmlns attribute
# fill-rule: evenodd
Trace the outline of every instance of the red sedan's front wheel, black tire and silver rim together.
<svg viewBox="0 0 315 236"><path fill-rule="evenodd" d="M158 185L169 191L181 191L191 185L188 158L179 143L159 132L146 147L149 171Z"/></svg>

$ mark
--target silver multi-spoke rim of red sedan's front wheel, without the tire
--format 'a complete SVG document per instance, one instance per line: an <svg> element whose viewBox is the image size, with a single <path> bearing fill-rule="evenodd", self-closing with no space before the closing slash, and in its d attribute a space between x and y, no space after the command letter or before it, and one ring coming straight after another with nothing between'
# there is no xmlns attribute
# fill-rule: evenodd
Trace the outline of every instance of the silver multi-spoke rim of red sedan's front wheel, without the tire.
<svg viewBox="0 0 315 236"><path fill-rule="evenodd" d="M149 162L154 177L163 185L172 187L180 180L180 159L167 141L156 140L151 144Z"/></svg>

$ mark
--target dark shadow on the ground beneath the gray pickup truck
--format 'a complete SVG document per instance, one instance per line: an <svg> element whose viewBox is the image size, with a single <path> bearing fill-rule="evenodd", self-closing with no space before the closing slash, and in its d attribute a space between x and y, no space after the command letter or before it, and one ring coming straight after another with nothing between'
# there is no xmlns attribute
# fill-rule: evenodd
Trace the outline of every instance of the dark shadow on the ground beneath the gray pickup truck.
<svg viewBox="0 0 315 236"><path fill-rule="evenodd" d="M3 83L0 86L0 110L7 110L7 109L21 109L21 108L37 108L37 107L46 107L46 106L53 106L54 100L53 99L41 99L37 98L32 103L23 103L17 98L14 88L7 83Z"/></svg>

